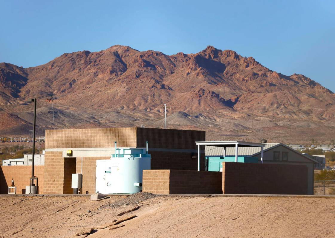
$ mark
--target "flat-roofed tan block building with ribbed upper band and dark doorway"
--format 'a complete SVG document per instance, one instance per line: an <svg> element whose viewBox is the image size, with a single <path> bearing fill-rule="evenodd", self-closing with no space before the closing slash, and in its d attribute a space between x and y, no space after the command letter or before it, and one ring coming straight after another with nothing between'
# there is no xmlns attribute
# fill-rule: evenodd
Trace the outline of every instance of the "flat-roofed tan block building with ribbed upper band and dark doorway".
<svg viewBox="0 0 335 238"><path fill-rule="evenodd" d="M145 148L148 141L151 169L197 170L194 142L205 137L205 131L136 127L47 130L43 193L73 193L74 173L83 174L82 192L94 193L96 160L110 159L115 141L118 148ZM202 168L204 155L201 148Z"/></svg>

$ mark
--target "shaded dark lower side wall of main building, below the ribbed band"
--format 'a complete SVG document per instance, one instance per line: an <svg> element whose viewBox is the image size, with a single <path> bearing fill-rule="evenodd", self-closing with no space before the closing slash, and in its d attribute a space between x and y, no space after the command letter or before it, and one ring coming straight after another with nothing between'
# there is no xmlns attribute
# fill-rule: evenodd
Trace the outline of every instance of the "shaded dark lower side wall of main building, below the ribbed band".
<svg viewBox="0 0 335 238"><path fill-rule="evenodd" d="M153 170L198 170L198 158L192 159L192 153L150 151ZM201 154L200 169L205 170L205 154Z"/></svg>

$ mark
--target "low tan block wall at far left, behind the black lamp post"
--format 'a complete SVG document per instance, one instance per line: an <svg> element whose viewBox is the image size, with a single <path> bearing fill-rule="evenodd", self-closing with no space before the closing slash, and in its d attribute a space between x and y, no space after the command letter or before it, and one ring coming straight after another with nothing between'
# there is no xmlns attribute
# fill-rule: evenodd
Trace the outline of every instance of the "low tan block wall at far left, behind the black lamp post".
<svg viewBox="0 0 335 238"><path fill-rule="evenodd" d="M44 187L44 166L35 166L34 175L38 177L39 194L43 194ZM16 194L24 194L25 186L30 184L31 166L1 166L0 169L0 193L7 194L8 186L12 184L16 186Z"/></svg>

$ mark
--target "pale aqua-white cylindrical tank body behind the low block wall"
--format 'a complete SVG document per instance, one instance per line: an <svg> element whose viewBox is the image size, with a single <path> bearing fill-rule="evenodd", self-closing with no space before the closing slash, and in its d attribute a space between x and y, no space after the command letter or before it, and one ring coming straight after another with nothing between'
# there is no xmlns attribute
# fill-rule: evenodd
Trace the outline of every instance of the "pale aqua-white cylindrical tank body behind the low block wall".
<svg viewBox="0 0 335 238"><path fill-rule="evenodd" d="M142 190L143 170L150 169L148 157L111 158L110 193L138 193ZM141 185L141 186L139 186Z"/></svg>

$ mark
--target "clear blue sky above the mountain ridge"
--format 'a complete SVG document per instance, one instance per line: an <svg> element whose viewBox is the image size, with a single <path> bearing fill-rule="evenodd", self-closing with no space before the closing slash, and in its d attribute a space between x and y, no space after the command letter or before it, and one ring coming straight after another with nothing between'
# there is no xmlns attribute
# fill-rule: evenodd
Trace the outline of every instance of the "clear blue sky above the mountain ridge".
<svg viewBox="0 0 335 238"><path fill-rule="evenodd" d="M0 62L30 67L112 45L165 54L213 45L335 91L335 1L0 0Z"/></svg>

